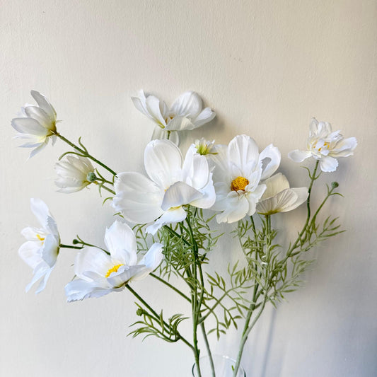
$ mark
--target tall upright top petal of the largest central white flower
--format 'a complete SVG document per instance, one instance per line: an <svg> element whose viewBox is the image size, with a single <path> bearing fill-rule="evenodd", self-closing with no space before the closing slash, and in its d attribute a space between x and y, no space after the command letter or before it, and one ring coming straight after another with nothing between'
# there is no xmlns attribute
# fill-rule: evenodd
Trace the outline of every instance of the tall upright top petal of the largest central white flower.
<svg viewBox="0 0 377 377"><path fill-rule="evenodd" d="M149 178L163 190L182 180L182 153L168 140L150 141L144 151L144 166Z"/></svg>

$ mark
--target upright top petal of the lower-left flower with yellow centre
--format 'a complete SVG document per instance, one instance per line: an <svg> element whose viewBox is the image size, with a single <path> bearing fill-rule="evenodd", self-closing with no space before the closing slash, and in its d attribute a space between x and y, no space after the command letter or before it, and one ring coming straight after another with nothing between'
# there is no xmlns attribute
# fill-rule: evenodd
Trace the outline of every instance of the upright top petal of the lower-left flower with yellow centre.
<svg viewBox="0 0 377 377"><path fill-rule="evenodd" d="M105 245L110 251L113 260L119 260L127 266L136 265L136 237L127 224L114 221L112 226L106 229Z"/></svg>

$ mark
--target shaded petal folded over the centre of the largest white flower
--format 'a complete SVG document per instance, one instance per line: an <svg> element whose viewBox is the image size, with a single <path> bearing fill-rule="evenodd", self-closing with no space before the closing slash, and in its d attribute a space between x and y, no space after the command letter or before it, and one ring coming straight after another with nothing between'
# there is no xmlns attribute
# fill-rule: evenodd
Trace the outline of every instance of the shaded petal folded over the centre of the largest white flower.
<svg viewBox="0 0 377 377"><path fill-rule="evenodd" d="M167 211L171 207L180 207L202 198L202 193L185 182L175 182L166 190L161 208Z"/></svg>

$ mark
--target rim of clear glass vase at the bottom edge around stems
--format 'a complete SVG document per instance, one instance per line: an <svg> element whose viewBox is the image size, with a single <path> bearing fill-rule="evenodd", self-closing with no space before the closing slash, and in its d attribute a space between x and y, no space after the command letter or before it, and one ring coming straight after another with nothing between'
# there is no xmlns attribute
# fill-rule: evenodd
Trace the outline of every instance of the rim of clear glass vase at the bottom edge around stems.
<svg viewBox="0 0 377 377"><path fill-rule="evenodd" d="M233 368L236 365L236 360L231 359L228 356L222 355L212 355L214 360L214 367L216 377L233 377ZM199 359L200 371L202 377L212 377L211 362L209 361L209 356L203 356ZM192 376L199 377L197 372L197 365L192 366ZM246 373L243 367L240 366L236 377L246 377Z"/></svg>

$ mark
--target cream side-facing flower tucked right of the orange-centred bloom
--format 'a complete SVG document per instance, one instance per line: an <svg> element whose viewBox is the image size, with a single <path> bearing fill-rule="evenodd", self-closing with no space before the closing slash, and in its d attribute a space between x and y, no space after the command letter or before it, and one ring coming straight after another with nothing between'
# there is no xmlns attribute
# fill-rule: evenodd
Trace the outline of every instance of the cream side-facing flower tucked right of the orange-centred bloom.
<svg viewBox="0 0 377 377"><path fill-rule="evenodd" d="M267 188L257 203L258 214L292 211L308 198L308 187L289 188L289 182L282 173L272 175L264 183Z"/></svg>

